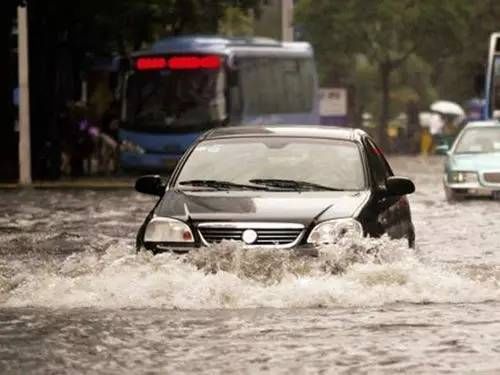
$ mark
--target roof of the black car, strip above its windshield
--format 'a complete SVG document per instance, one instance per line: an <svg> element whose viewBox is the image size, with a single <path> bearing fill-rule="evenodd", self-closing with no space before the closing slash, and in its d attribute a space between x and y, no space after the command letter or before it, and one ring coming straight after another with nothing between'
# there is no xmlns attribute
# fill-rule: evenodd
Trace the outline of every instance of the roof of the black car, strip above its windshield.
<svg viewBox="0 0 500 375"><path fill-rule="evenodd" d="M213 129L202 140L239 137L305 137L359 141L367 134L360 129L322 125L241 125Z"/></svg>

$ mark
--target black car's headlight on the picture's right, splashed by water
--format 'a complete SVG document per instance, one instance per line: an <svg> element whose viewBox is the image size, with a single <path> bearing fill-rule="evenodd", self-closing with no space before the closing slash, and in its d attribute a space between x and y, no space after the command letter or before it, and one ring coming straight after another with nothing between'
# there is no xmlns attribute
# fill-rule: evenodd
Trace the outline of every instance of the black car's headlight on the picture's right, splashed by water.
<svg viewBox="0 0 500 375"><path fill-rule="evenodd" d="M307 239L315 245L335 243L341 238L363 237L363 226L354 219L337 219L325 221L314 227Z"/></svg>

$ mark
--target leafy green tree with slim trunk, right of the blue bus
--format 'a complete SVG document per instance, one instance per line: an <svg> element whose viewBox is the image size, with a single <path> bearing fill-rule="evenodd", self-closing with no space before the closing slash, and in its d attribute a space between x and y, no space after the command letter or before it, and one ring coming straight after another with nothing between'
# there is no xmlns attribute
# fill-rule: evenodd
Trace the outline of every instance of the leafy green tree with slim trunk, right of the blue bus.
<svg viewBox="0 0 500 375"><path fill-rule="evenodd" d="M412 55L429 61L460 51L469 11L465 0L302 0L296 19L322 63L337 61L346 73L346 61L363 54L377 67L381 85L378 135L384 147L391 74ZM334 56L337 52L339 58Z"/></svg>

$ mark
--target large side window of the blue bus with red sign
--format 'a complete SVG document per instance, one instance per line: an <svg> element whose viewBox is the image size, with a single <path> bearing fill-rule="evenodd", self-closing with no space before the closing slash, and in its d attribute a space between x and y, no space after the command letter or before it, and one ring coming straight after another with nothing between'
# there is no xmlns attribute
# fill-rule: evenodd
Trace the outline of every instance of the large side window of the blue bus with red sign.
<svg viewBox="0 0 500 375"><path fill-rule="evenodd" d="M244 58L239 68L245 114L312 111L315 87L312 60Z"/></svg>

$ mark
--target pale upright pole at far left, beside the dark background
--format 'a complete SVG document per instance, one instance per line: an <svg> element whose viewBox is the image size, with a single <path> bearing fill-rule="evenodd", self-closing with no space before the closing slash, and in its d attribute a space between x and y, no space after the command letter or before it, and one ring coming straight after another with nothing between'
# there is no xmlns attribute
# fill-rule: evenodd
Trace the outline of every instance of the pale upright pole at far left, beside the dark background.
<svg viewBox="0 0 500 375"><path fill-rule="evenodd" d="M28 66L28 5L17 8L19 66L19 182L31 184L31 135Z"/></svg>

